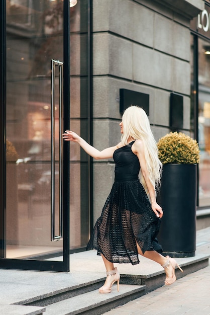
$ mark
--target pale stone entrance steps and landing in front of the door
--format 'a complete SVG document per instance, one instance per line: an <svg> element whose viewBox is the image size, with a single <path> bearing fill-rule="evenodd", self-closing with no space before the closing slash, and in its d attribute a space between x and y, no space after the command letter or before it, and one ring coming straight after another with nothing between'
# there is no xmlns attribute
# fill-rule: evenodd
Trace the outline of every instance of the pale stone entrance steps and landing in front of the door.
<svg viewBox="0 0 210 315"><path fill-rule="evenodd" d="M177 279L206 267L208 257L206 254L197 254L196 257L178 259L184 272L177 269ZM141 257L139 266L120 266L120 292L117 292L117 286L114 285L112 293L99 294L98 288L103 285L106 277L101 272L104 267L95 252L75 254L71 264L72 271L62 274L1 270L2 303L12 307L14 304L45 307L47 311L44 314L48 315L102 314L161 287L165 280L162 267ZM20 283L21 290L17 290L17 284ZM7 310L5 314L0 311L0 314L10 313ZM14 314L19 315L18 312Z"/></svg>

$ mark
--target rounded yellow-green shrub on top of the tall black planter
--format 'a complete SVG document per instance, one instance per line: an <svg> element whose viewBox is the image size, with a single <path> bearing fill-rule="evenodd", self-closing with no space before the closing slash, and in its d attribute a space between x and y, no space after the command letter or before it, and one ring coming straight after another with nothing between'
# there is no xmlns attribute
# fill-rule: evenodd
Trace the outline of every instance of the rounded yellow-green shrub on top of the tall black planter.
<svg viewBox="0 0 210 315"><path fill-rule="evenodd" d="M197 164L200 150L196 140L182 132L170 132L157 143L162 164Z"/></svg>

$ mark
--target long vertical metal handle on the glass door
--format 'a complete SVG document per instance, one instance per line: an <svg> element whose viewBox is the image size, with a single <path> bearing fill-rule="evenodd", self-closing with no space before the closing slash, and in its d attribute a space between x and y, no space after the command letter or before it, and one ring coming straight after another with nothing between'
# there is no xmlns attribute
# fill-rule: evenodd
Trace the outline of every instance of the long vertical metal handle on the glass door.
<svg viewBox="0 0 210 315"><path fill-rule="evenodd" d="M59 234L55 235L55 67L59 67ZM51 241L63 238L63 62L51 60Z"/></svg>

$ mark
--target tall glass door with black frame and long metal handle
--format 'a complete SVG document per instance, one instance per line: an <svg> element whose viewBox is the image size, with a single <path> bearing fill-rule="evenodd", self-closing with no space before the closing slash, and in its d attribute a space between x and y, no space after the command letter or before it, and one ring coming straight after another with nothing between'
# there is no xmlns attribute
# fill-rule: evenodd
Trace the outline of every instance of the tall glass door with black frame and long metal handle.
<svg viewBox="0 0 210 315"><path fill-rule="evenodd" d="M69 128L70 4L3 3L6 211L0 267L69 271L69 146L62 133ZM56 256L59 261L52 260Z"/></svg>

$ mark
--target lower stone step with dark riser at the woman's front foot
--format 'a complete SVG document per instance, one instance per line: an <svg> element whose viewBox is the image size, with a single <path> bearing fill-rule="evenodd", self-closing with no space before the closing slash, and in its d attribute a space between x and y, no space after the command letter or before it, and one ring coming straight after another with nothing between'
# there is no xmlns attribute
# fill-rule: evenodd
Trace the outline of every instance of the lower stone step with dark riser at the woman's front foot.
<svg viewBox="0 0 210 315"><path fill-rule="evenodd" d="M80 284L77 288L66 288L66 291L43 296L42 299L34 300L27 305L44 306L46 315L103 314L145 294L145 285L123 284L128 282L126 279L127 276L122 275L119 292L117 285L114 285L111 293L98 293L98 288L105 280L100 278L94 282ZM141 279L137 282L141 283Z"/></svg>

